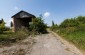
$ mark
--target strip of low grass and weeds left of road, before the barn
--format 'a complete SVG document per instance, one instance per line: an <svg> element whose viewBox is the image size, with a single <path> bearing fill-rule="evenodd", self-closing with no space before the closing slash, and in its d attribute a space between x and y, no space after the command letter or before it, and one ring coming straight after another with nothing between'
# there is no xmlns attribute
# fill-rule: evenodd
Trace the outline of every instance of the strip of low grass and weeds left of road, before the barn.
<svg viewBox="0 0 85 55"><path fill-rule="evenodd" d="M7 46L13 44L19 40L25 39L27 36L29 36L29 32L24 30L20 30L15 33L11 31L4 31L2 34L0 34L0 46Z"/></svg>

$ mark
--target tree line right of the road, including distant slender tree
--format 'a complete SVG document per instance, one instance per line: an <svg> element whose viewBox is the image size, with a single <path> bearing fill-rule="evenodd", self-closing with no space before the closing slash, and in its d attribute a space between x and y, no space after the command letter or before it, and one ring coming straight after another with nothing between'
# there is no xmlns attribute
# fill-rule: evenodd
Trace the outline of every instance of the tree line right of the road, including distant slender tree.
<svg viewBox="0 0 85 55"><path fill-rule="evenodd" d="M60 25L54 24L52 21L51 30L66 29L70 31L85 30L85 16L65 19Z"/></svg>

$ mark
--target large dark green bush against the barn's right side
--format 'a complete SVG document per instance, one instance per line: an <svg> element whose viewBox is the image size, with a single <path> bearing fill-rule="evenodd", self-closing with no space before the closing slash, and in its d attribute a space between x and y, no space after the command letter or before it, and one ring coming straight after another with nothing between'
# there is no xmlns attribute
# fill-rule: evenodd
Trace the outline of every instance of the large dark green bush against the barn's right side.
<svg viewBox="0 0 85 55"><path fill-rule="evenodd" d="M46 33L47 25L44 23L41 17L33 18L32 24L30 25L30 30L37 33Z"/></svg>

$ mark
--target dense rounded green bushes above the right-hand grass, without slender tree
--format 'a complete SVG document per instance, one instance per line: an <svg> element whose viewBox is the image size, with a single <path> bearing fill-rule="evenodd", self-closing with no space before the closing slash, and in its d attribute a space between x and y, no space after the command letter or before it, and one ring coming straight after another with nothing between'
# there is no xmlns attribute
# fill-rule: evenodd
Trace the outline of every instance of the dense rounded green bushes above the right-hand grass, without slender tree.
<svg viewBox="0 0 85 55"><path fill-rule="evenodd" d="M85 16L78 16L76 18L66 19L64 20L60 26L60 28L66 28L71 30L74 28L74 31L76 30L85 30Z"/></svg>

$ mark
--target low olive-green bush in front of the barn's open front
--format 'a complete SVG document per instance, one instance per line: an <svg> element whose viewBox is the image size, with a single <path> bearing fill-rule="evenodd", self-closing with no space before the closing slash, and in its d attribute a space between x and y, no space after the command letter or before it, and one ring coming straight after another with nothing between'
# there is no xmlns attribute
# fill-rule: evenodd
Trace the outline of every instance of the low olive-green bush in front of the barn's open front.
<svg viewBox="0 0 85 55"><path fill-rule="evenodd" d="M10 36L16 38L17 40L22 40L29 35L30 35L30 33L29 33L28 29L21 28L17 32L15 32L14 35L10 35Z"/></svg>

